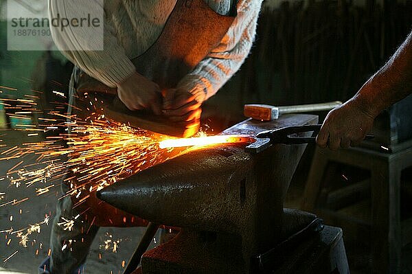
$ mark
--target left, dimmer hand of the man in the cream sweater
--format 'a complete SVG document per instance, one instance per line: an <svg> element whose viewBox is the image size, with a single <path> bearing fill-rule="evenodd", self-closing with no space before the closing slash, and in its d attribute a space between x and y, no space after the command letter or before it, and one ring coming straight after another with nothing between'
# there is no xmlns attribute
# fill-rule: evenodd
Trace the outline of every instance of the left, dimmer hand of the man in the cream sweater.
<svg viewBox="0 0 412 274"><path fill-rule="evenodd" d="M161 91L159 85L135 72L117 85L117 96L130 111L151 109L161 114Z"/></svg>

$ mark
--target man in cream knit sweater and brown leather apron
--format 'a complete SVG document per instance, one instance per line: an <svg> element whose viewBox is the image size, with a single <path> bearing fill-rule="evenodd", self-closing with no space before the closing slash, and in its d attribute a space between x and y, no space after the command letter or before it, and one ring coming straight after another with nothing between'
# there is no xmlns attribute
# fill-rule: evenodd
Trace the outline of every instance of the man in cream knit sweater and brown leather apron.
<svg viewBox="0 0 412 274"><path fill-rule="evenodd" d="M202 103L247 58L261 4L262 0L104 0L104 5L96 0L49 0L51 19L82 18L88 10L104 9L100 51L86 50L96 38L87 28L76 35L76 27L52 26L56 45L76 65L70 104L81 104L76 102L80 87L92 78L100 83L94 89L115 93L130 110L149 109L186 127L198 125ZM78 50L67 50L68 45ZM98 226L82 216L70 231L57 225L62 218L78 216L72 207L70 197L58 203L52 254L41 273L82 273ZM87 233L84 227L89 227ZM70 249L63 249L69 240Z"/></svg>

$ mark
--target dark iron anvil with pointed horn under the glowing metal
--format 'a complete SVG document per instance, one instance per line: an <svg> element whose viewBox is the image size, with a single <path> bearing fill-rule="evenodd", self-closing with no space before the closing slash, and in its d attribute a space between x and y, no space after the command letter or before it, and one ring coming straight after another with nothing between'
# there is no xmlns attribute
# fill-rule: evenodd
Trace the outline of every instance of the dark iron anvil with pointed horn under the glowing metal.
<svg viewBox="0 0 412 274"><path fill-rule="evenodd" d="M316 115L248 119L223 134L317 122ZM181 227L178 236L144 254L143 273L251 273L251 258L282 240L284 197L305 148L275 144L253 154L244 144L225 144L188 150L98 196L151 222Z"/></svg>

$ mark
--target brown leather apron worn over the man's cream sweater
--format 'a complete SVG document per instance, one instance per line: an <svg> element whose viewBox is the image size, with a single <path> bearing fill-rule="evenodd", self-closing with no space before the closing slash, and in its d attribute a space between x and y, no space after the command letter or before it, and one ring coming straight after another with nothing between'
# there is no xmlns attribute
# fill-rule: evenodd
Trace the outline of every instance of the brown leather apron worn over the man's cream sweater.
<svg viewBox="0 0 412 274"><path fill-rule="evenodd" d="M211 49L219 45L235 18L236 14L218 14L203 0L178 0L155 44L141 56L132 59L132 62L137 72L159 84L162 90L175 88L183 76L194 69ZM69 113L81 118L104 109L117 94L116 89L87 76L78 68L73 71L71 84L69 105L76 107L69 107ZM73 94L74 92L76 94ZM93 102L93 109L89 105L90 102ZM80 109L82 111L79 111ZM93 220L94 225L147 225L145 220L100 201L95 193L91 193L89 198L78 203L81 199L82 196L77 199L72 197L73 207L78 207L78 212L85 212L83 216L89 221Z"/></svg>

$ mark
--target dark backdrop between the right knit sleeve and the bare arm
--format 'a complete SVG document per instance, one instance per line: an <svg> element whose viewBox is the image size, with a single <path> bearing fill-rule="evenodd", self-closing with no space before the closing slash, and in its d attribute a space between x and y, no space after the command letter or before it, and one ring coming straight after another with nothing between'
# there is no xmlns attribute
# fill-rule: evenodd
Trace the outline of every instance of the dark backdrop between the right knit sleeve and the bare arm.
<svg viewBox="0 0 412 274"><path fill-rule="evenodd" d="M412 1L280 2L264 2L249 58L209 100L230 119L244 103L345 101L411 31Z"/></svg>

